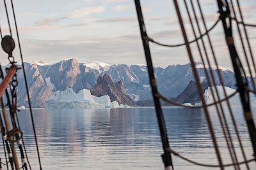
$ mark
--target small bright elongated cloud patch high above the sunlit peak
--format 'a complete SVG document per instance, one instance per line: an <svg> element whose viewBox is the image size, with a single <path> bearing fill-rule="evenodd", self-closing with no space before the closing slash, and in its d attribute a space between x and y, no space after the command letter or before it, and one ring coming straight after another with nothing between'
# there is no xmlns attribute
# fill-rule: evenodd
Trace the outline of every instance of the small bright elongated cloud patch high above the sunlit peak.
<svg viewBox="0 0 256 170"><path fill-rule="evenodd" d="M70 18L82 18L87 15L91 15L94 13L103 13L105 11L104 6L96 6L96 7L88 7L88 8L83 8L81 10L74 10L72 11L68 17Z"/></svg>

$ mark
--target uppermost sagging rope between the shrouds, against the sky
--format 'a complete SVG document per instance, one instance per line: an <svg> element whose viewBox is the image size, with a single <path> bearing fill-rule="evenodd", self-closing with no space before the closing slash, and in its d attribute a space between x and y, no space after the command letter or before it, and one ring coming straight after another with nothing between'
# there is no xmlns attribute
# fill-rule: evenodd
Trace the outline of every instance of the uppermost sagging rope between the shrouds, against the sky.
<svg viewBox="0 0 256 170"><path fill-rule="evenodd" d="M219 23L220 21L220 17L218 18L218 20L216 20L216 22L214 22L214 24L212 25L212 27L207 30L204 34L200 35L198 38L195 38L193 41L189 41L189 44L194 43L195 41L198 41L199 39L202 39L206 34L208 34L210 31L212 31L212 29L214 29L214 27L216 27L216 25ZM157 45L161 45L161 46L167 46L167 47L177 47L177 46L183 46L185 45L185 43L180 43L177 45L166 45L164 43L159 43L158 41L155 41L154 39L150 38L150 37L145 37L144 39L152 42L152 43L156 43Z"/></svg>

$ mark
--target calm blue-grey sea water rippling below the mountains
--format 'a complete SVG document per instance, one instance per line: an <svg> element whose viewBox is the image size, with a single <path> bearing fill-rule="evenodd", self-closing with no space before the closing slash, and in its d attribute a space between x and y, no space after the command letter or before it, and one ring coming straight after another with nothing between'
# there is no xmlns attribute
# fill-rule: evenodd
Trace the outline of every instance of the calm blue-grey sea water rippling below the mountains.
<svg viewBox="0 0 256 170"><path fill-rule="evenodd" d="M170 145L176 152L197 162L217 164L204 111L184 108L163 108L163 111ZM241 108L234 106L234 111L246 155L252 158ZM33 112L43 169L164 169L154 108L36 109ZM223 160L230 163L218 117L213 110L211 117ZM20 111L19 119L29 161L33 169L38 169L29 111ZM232 134L234 136L233 129ZM235 146L240 154L237 143ZM1 157L4 158L3 153ZM175 156L173 164L175 169L205 169ZM255 162L250 166L255 169Z"/></svg>

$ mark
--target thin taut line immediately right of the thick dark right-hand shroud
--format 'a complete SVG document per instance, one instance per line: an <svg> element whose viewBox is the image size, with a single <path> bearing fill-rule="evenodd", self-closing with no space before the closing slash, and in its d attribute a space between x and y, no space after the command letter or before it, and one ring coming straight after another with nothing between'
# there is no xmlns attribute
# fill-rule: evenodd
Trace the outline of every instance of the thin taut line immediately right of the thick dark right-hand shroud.
<svg viewBox="0 0 256 170"><path fill-rule="evenodd" d="M231 6L232 6L234 18L237 18L237 17L236 17L236 11L235 11L234 4L233 4L233 1L232 1L232 0L230 0L230 4L231 4ZM246 52L246 48L245 48L245 46L244 46L244 41L243 41L243 36L242 36L242 33L241 33L241 29L240 29L238 23L236 23L236 26L237 26L237 31L238 31L238 33L239 33L239 38L240 38L240 41L241 41L241 45L242 45L242 47L243 47L244 57L245 57L245 59L246 59L246 64L247 64L247 66L248 66L248 71L249 71L249 73L250 73L250 78L251 78L251 80L252 80L253 90L256 91L256 86L255 86L255 82L254 82L254 80L253 80L253 75L252 75L252 69L251 69L251 67L250 67L248 55L247 55L247 52Z"/></svg>

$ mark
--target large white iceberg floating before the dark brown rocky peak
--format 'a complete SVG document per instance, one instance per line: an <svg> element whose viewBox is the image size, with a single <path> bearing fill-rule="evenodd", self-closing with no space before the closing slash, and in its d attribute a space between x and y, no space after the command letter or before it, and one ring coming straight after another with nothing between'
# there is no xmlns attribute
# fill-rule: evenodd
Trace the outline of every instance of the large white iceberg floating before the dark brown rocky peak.
<svg viewBox="0 0 256 170"><path fill-rule="evenodd" d="M56 91L51 94L45 108L118 108L116 101L111 102L110 97L93 96L88 89L80 90L77 94L73 89Z"/></svg>

